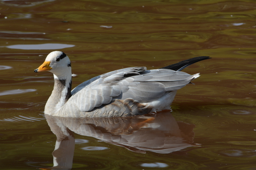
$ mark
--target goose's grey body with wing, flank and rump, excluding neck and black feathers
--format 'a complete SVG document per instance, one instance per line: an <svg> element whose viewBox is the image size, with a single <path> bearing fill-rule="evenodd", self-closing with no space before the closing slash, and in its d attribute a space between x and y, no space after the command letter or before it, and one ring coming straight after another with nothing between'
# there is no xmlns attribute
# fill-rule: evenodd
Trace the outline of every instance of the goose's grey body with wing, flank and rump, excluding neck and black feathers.
<svg viewBox="0 0 256 170"><path fill-rule="evenodd" d="M176 90L198 76L146 67L116 70L78 85L60 113L71 117L115 117L170 109Z"/></svg>

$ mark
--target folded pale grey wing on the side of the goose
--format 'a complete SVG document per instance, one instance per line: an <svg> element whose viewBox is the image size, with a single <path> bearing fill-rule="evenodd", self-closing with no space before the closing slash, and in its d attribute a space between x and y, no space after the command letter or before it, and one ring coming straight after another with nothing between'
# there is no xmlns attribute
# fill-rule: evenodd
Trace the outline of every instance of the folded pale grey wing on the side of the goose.
<svg viewBox="0 0 256 170"><path fill-rule="evenodd" d="M151 102L168 91L184 87L191 79L193 75L167 69L120 69L81 83L72 90L72 96L64 106L72 108L75 104L79 111L87 112L116 99Z"/></svg>

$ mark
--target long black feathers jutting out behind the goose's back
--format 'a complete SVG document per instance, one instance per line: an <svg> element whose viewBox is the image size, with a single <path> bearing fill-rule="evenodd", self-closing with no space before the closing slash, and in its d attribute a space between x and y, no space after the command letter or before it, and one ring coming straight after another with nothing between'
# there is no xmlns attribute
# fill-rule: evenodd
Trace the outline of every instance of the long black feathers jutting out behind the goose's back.
<svg viewBox="0 0 256 170"><path fill-rule="evenodd" d="M207 59L211 59L211 58L209 56L200 56L200 57L195 57L195 58L188 59L188 60L183 60L176 64L172 64L170 66L166 66L166 67L162 67L162 68L170 69L170 70L174 70L174 71L181 71L184 68L190 66L191 64L194 64L198 61L207 60Z"/></svg>

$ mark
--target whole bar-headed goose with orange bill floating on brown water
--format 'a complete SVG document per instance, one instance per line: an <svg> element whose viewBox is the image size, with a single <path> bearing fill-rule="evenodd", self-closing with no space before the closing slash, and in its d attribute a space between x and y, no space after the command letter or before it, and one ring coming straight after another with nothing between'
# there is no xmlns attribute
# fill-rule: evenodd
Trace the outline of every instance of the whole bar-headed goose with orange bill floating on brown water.
<svg viewBox="0 0 256 170"><path fill-rule="evenodd" d="M44 113L61 117L118 117L143 115L170 109L178 89L198 74L180 72L207 56L184 60L160 69L129 67L84 81L71 91L71 64L68 56L54 51L35 72L50 71L54 87Z"/></svg>

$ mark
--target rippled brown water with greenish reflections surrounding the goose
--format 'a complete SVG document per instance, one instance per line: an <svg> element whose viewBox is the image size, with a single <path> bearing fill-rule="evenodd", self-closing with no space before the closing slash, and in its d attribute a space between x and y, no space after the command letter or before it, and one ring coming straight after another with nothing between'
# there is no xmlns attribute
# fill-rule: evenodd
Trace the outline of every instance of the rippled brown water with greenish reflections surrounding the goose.
<svg viewBox="0 0 256 170"><path fill-rule="evenodd" d="M255 1L2 0L0 13L1 169L53 158L66 169L256 169ZM53 78L34 69L56 50L71 59L73 88L123 67L212 59L184 69L201 76L171 113L46 121Z"/></svg>

